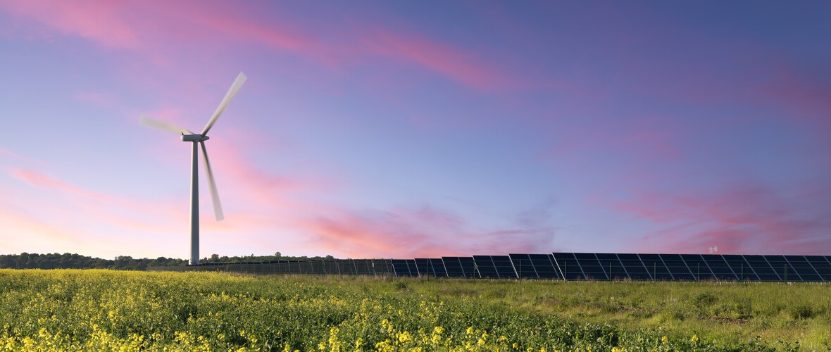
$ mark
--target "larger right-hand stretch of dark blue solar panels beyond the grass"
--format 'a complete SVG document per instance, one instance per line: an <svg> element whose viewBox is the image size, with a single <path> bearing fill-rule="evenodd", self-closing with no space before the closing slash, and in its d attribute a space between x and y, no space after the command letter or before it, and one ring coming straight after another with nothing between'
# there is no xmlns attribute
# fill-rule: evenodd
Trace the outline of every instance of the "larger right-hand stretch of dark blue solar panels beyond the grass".
<svg viewBox="0 0 831 352"><path fill-rule="evenodd" d="M637 281L831 281L831 257L553 253L392 259L396 276Z"/></svg>

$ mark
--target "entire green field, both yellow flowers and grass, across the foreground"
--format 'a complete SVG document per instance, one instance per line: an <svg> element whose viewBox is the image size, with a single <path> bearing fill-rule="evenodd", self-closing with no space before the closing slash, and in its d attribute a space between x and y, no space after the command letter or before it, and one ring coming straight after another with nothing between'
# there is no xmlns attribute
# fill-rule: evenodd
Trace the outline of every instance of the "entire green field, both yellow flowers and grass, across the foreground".
<svg viewBox="0 0 831 352"><path fill-rule="evenodd" d="M0 270L0 350L831 350L829 289Z"/></svg>

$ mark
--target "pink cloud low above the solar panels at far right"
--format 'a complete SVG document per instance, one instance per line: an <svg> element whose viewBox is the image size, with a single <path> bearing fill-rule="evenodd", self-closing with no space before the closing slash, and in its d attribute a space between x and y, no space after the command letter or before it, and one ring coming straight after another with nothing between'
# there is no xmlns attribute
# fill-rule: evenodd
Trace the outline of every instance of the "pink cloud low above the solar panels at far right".
<svg viewBox="0 0 831 352"><path fill-rule="evenodd" d="M831 251L828 195L818 188L784 198L748 184L716 193L642 194L615 208L659 228L633 244L640 251L820 254Z"/></svg>

